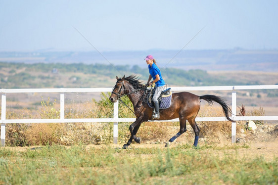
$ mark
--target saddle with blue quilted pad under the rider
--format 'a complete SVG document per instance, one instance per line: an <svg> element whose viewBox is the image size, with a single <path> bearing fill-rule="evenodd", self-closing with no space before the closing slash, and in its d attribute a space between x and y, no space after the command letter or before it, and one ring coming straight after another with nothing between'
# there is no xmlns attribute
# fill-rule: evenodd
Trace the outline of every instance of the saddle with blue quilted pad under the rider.
<svg viewBox="0 0 278 185"><path fill-rule="evenodd" d="M153 97L154 94L154 88L147 89L144 95L144 101L147 102L148 106L151 108L154 108L153 106ZM171 105L171 100L172 100L172 92L171 88L168 88L161 92L161 94L158 97L158 102L159 102L159 108L160 109L166 109L169 108Z"/></svg>

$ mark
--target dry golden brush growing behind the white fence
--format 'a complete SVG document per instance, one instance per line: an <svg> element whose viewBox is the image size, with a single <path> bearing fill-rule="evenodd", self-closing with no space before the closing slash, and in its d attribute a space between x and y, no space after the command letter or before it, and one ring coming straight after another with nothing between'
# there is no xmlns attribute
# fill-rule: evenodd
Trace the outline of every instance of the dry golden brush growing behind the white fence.
<svg viewBox="0 0 278 185"><path fill-rule="evenodd" d="M126 100L127 101L127 100ZM130 106L132 106L130 104ZM39 110L42 118L57 118L59 110L56 102L50 102L49 98L42 100L42 108ZM263 108L247 112L247 115L262 115ZM219 106L204 107L200 117L223 116ZM113 116L113 104L103 95L100 101L88 101L84 103L72 103L65 109L65 118L107 118ZM23 115L7 112L8 119L23 119ZM124 105L119 105L119 117L134 117L133 113ZM30 112L30 118L32 113ZM119 123L118 142L125 143L130 138L129 125L131 123ZM219 142L230 140L232 124L226 122L198 122L200 138L207 142ZM244 122L238 122L236 133L240 134L245 129ZM177 122L145 122L142 123L138 136L144 142L162 142L173 137L179 132ZM187 124L187 132L179 140L192 140L194 136L192 128ZM73 145L102 144L113 142L113 123L40 123L40 124L7 124L6 144L11 146L63 144Z"/></svg>

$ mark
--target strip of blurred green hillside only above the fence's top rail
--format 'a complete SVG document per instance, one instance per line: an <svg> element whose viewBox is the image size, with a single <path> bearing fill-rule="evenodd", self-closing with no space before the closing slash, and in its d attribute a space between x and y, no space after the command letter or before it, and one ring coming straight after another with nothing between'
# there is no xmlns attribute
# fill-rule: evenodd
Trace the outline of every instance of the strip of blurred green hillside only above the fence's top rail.
<svg viewBox="0 0 278 185"><path fill-rule="evenodd" d="M162 69L169 86L274 85L278 73L214 72L177 68ZM0 62L0 88L96 88L112 87L116 75L135 74L146 83L149 72L139 65L84 63L14 63Z"/></svg>

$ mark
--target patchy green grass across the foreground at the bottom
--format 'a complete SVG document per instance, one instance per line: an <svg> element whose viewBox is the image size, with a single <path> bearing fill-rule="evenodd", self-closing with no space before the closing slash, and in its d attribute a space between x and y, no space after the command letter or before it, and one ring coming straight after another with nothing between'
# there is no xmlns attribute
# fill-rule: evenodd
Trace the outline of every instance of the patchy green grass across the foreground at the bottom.
<svg viewBox="0 0 278 185"><path fill-rule="evenodd" d="M171 148L0 148L1 184L277 184L278 158L238 156L247 145ZM234 152L219 157L216 150Z"/></svg>

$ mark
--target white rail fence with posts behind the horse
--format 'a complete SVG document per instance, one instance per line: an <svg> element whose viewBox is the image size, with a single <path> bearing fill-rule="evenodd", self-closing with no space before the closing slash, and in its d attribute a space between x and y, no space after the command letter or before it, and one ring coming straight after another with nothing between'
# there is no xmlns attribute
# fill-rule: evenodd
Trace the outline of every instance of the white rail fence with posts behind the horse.
<svg viewBox="0 0 278 185"><path fill-rule="evenodd" d="M259 89L278 89L278 85L269 86L211 86L211 87L173 87L174 92L180 91L232 91L232 120L278 120L278 116L236 116L236 90L259 90ZM65 119L64 100L65 93L99 93L111 92L112 88L82 88L82 89L1 89L1 144L5 145L5 125L9 123L82 123L82 122L114 122L113 136L114 143L118 140L118 122L134 122L135 118L118 117L118 101L114 103L113 118L84 118L84 119ZM6 119L6 93L60 93L60 119ZM167 120L179 121L179 119ZM226 117L197 117L196 121L227 121ZM232 143L235 142L235 122L232 122Z"/></svg>

